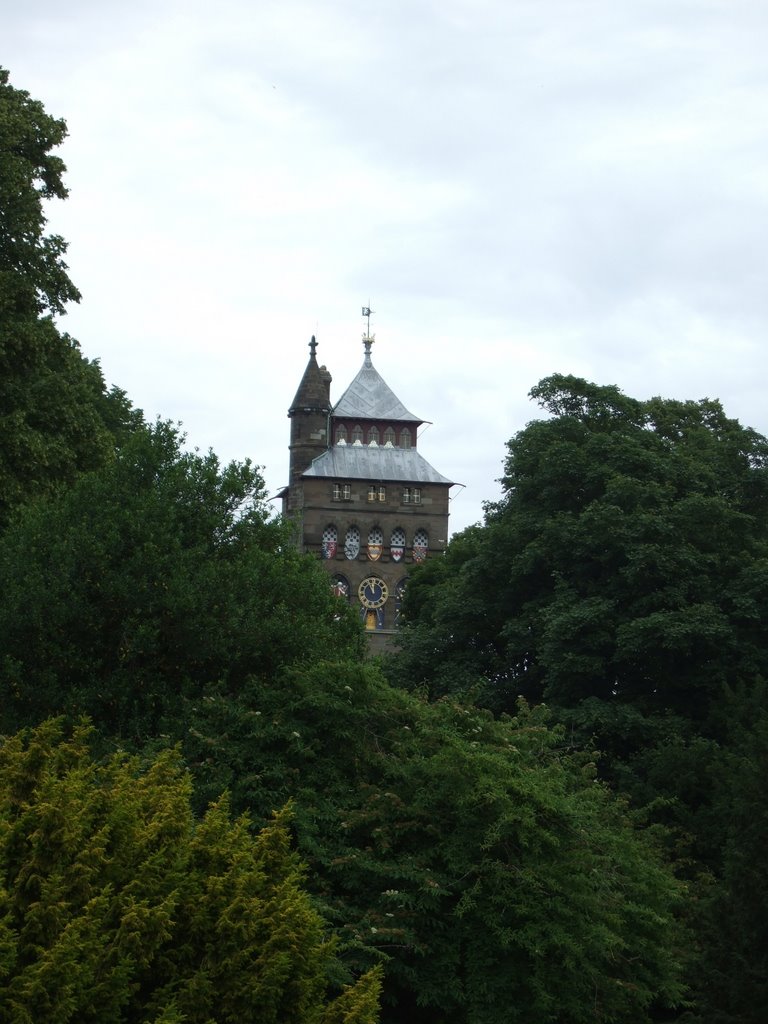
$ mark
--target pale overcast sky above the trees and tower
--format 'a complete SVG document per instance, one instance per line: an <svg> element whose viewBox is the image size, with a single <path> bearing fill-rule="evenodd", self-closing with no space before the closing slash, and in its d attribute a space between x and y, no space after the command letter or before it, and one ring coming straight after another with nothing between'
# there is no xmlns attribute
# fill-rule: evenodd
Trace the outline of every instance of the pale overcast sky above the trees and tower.
<svg viewBox="0 0 768 1024"><path fill-rule="evenodd" d="M288 480L308 357L374 364L466 484L551 373L768 433L765 0L2 2L67 120L62 327L150 417ZM455 488L456 492L459 488Z"/></svg>

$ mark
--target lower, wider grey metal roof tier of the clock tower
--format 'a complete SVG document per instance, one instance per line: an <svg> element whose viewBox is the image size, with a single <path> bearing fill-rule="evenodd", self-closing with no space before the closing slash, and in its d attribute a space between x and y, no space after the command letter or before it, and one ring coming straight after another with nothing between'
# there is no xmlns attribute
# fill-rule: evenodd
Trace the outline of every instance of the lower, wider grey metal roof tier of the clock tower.
<svg viewBox="0 0 768 1024"><path fill-rule="evenodd" d="M445 483L442 476L415 449L335 444L312 462L304 476L338 480L387 480L398 483Z"/></svg>

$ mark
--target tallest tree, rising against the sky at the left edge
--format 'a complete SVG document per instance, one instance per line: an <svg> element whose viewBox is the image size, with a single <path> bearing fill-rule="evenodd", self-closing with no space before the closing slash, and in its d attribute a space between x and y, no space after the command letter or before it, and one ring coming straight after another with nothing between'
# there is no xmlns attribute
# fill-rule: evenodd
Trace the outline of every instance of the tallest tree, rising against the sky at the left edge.
<svg viewBox="0 0 768 1024"><path fill-rule="evenodd" d="M52 153L67 126L8 78L0 68L0 527L19 504L101 465L138 419L54 323L80 299L66 242L45 234L44 204L67 197Z"/></svg>

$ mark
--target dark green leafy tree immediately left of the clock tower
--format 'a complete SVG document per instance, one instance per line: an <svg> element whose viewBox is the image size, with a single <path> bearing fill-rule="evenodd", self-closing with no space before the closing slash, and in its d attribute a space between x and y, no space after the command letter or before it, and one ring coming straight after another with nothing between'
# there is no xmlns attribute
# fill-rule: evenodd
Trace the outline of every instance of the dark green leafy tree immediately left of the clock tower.
<svg viewBox="0 0 768 1024"><path fill-rule="evenodd" d="M183 736L184 698L328 650L358 625L270 521L258 472L136 430L102 469L0 538L0 724L67 714L140 743Z"/></svg>

